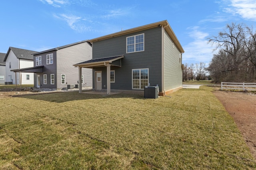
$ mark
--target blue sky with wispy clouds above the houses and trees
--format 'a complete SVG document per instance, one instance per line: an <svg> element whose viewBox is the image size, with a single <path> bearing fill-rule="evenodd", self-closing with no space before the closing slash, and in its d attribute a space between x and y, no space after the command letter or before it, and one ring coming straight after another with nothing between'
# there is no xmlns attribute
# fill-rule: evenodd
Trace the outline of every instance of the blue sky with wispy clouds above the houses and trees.
<svg viewBox="0 0 256 170"><path fill-rule="evenodd" d="M168 20L185 53L182 63L209 63L207 38L227 24L256 27L255 0L2 0L0 53L44 51Z"/></svg>

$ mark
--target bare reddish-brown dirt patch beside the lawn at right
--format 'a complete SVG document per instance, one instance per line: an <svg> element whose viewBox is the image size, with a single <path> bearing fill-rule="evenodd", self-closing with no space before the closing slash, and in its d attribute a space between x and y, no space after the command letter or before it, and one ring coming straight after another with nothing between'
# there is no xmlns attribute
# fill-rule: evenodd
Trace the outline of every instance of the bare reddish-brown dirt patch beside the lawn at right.
<svg viewBox="0 0 256 170"><path fill-rule="evenodd" d="M219 90L213 94L233 117L250 152L256 159L256 94Z"/></svg>

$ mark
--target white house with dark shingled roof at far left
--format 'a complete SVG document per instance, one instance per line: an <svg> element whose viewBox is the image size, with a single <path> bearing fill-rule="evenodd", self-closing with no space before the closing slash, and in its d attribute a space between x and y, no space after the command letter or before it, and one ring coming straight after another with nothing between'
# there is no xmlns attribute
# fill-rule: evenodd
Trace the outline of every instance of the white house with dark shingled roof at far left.
<svg viewBox="0 0 256 170"><path fill-rule="evenodd" d="M13 72L12 70L34 66L33 55L37 51L9 47L5 55L6 84L34 84L34 73Z"/></svg>

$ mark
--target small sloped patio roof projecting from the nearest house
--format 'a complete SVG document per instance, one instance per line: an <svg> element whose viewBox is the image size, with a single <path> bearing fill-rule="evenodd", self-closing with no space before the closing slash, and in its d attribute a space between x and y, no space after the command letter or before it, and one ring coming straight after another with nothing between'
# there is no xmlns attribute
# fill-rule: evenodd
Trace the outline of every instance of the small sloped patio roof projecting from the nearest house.
<svg viewBox="0 0 256 170"><path fill-rule="evenodd" d="M101 59L91 59L88 61L84 61L82 63L74 64L73 66L84 67L84 68L93 68L106 66L106 64L110 64L112 66L121 66L121 60L124 58L124 55L114 56L114 57L106 57ZM120 62L118 62L120 60ZM116 61L116 62L115 62Z"/></svg>

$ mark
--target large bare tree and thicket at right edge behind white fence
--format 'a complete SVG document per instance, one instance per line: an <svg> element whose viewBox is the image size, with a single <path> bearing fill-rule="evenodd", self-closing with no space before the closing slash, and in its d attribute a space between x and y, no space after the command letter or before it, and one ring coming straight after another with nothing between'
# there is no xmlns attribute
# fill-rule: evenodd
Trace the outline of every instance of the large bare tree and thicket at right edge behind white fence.
<svg viewBox="0 0 256 170"><path fill-rule="evenodd" d="M256 80L256 33L252 29L231 23L208 42L219 50L207 68L215 81Z"/></svg>

